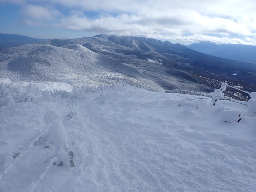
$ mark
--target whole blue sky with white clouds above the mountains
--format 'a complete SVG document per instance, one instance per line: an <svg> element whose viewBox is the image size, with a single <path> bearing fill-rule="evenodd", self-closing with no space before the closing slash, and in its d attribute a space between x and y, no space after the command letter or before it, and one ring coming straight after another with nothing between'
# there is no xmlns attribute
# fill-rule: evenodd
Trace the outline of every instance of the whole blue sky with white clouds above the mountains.
<svg viewBox="0 0 256 192"><path fill-rule="evenodd" d="M256 45L255 0L0 0L0 33Z"/></svg>

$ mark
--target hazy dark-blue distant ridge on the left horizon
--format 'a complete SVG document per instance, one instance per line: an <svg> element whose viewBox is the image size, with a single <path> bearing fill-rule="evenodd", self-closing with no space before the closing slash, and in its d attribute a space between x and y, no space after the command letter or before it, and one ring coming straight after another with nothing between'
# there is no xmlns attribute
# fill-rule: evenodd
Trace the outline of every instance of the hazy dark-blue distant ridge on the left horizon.
<svg viewBox="0 0 256 192"><path fill-rule="evenodd" d="M31 38L18 34L0 33L0 48L27 44L29 42L41 41L42 39Z"/></svg>

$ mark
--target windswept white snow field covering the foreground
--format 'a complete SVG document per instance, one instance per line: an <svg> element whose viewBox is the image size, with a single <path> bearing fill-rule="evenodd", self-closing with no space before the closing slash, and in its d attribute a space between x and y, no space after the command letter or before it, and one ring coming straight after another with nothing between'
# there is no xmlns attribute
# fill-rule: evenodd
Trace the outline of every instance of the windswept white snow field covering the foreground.
<svg viewBox="0 0 256 192"><path fill-rule="evenodd" d="M0 86L1 192L256 189L246 105L130 86Z"/></svg>

